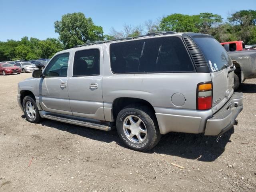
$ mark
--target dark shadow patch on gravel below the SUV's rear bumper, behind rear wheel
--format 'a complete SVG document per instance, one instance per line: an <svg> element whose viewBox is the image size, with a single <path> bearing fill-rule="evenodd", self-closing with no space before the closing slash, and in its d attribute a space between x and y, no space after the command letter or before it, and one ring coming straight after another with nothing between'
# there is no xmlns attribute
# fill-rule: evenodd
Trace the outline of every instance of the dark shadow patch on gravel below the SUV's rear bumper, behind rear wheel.
<svg viewBox="0 0 256 192"><path fill-rule="evenodd" d="M158 145L149 152L212 162L224 152L226 144L232 142L230 137L233 133L234 127L216 142L217 136L172 132L163 135Z"/></svg>

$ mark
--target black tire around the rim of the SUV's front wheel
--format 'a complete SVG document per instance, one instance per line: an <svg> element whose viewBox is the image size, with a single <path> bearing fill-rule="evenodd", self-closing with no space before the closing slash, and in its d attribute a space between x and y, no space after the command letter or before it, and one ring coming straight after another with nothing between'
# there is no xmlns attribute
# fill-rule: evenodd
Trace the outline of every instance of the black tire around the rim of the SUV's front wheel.
<svg viewBox="0 0 256 192"><path fill-rule="evenodd" d="M34 106L34 109L35 109L35 116L32 118L31 116L33 115L29 115L26 111L26 104L28 102L31 102L32 105ZM31 95L28 95L28 96L25 96L23 101L22 101L22 106L23 106L23 112L26 116L26 119L31 122L31 123L38 123L42 120L42 118L40 117L39 115L39 112L38 112L38 108L37 108L37 105L36 105L36 101L34 100L33 96Z"/></svg>

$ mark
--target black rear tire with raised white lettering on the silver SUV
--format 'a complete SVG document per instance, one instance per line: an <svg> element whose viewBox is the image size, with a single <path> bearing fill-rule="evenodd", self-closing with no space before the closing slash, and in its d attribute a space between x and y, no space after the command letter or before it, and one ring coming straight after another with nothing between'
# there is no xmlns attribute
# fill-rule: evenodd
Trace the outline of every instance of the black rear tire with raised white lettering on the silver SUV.
<svg viewBox="0 0 256 192"><path fill-rule="evenodd" d="M132 116L135 119L138 117L140 118L140 120L142 120L143 124L140 124L139 127L141 127L141 125L145 126L146 127L145 130L147 132L143 137L143 140L144 140L143 142L141 143L133 142L131 139L128 138L127 131L125 133L123 124L126 119L128 120L128 116ZM131 105L123 108L118 113L118 116L116 119L116 129L120 139L124 142L124 144L128 148L131 148L133 150L138 150L138 151L150 150L154 146L156 146L156 144L158 144L161 138L156 116L148 106ZM130 134L132 135L131 131L130 131ZM136 135L134 136L135 138L138 138Z"/></svg>

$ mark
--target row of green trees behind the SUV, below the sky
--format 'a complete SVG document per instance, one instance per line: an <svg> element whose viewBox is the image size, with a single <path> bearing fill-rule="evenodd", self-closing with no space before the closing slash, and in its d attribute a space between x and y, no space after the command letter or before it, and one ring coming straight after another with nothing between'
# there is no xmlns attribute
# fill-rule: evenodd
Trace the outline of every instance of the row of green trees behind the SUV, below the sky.
<svg viewBox="0 0 256 192"><path fill-rule="evenodd" d="M56 52L72 48L87 42L113 40L139 36L154 31L199 32L214 36L219 42L243 40L245 44L256 44L256 10L240 10L230 14L226 21L213 13L196 15L170 14L155 21L147 20L143 24L132 26L124 24L123 30L110 28L110 34L104 34L101 26L93 23L81 12L65 14L60 21L54 22L59 38L23 37L19 41L0 42L0 61L32 60L51 58Z"/></svg>

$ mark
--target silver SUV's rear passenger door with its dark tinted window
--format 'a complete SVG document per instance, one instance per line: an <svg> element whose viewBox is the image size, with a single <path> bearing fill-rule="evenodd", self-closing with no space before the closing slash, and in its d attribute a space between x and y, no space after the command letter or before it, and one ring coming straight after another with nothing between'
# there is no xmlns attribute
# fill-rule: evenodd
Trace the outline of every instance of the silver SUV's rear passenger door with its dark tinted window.
<svg viewBox="0 0 256 192"><path fill-rule="evenodd" d="M74 53L72 77L68 79L70 108L74 116L105 120L102 98L101 46Z"/></svg>

